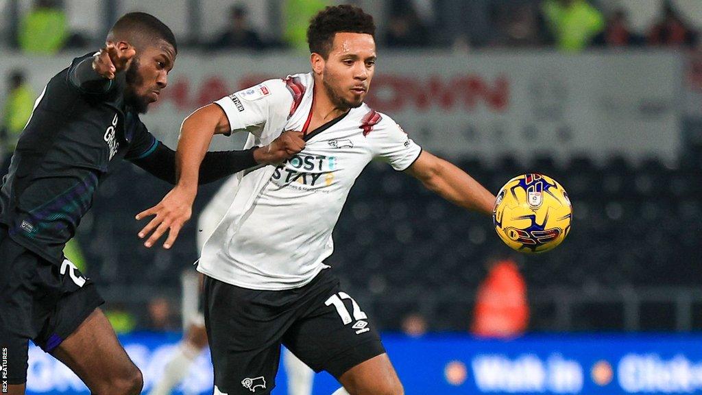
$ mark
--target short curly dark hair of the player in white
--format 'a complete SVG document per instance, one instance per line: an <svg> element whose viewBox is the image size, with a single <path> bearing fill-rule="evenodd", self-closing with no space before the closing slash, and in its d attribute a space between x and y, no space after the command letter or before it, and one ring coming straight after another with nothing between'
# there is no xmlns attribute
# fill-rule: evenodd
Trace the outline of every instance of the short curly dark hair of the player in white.
<svg viewBox="0 0 702 395"><path fill-rule="evenodd" d="M310 53L319 53L326 59L331 51L334 35L340 32L365 33L376 37L373 17L356 6L330 6L319 11L307 27Z"/></svg>

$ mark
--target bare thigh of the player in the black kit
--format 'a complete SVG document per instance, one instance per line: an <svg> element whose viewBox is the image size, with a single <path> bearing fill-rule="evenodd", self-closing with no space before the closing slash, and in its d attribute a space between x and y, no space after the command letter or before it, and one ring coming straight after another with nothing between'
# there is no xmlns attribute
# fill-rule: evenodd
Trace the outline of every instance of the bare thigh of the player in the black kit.
<svg viewBox="0 0 702 395"><path fill-rule="evenodd" d="M93 394L139 394L143 378L117 340L110 321L94 309L52 353Z"/></svg>

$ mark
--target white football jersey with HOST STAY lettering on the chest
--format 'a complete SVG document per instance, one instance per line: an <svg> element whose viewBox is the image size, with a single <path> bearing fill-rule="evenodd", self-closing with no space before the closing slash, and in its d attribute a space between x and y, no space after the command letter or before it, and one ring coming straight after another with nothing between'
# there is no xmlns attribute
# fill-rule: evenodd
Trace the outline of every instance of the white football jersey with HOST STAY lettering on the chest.
<svg viewBox="0 0 702 395"><path fill-rule="evenodd" d="M271 79L215 103L232 132L267 144L284 130L302 131L312 109L313 79ZM309 283L333 252L331 233L346 197L373 159L404 170L421 148L387 115L361 105L307 131L307 144L278 167L242 171L227 183L229 209L206 241L198 270L254 290Z"/></svg>

